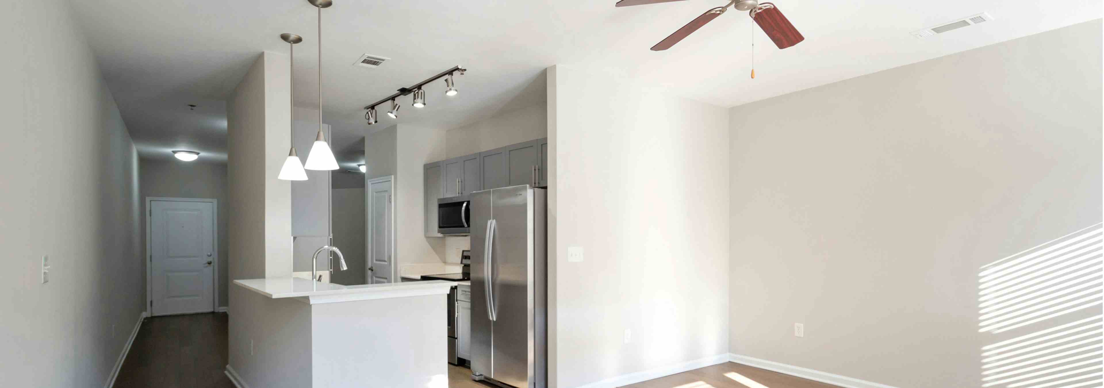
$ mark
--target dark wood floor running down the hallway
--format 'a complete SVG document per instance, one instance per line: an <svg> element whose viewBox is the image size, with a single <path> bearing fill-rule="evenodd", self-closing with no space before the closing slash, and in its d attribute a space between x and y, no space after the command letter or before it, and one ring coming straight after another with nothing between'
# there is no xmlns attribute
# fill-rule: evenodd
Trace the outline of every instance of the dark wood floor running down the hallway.
<svg viewBox="0 0 1104 388"><path fill-rule="evenodd" d="M146 319L115 388L234 388L226 369L226 313Z"/></svg>

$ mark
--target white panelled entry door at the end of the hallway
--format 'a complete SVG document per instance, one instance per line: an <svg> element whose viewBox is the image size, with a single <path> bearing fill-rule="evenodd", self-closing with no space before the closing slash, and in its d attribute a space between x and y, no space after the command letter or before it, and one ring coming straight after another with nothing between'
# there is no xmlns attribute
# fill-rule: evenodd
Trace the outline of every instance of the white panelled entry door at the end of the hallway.
<svg viewBox="0 0 1104 388"><path fill-rule="evenodd" d="M214 311L214 203L149 204L150 314Z"/></svg>

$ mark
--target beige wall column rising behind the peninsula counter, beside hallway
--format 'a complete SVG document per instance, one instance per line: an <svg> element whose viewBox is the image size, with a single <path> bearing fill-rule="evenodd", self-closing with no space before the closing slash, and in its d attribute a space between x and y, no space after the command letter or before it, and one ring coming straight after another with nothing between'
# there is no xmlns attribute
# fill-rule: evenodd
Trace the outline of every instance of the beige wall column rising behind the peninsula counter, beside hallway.
<svg viewBox="0 0 1104 388"><path fill-rule="evenodd" d="M226 104L230 279L291 276L288 58L264 52ZM300 151L300 158L306 153Z"/></svg>

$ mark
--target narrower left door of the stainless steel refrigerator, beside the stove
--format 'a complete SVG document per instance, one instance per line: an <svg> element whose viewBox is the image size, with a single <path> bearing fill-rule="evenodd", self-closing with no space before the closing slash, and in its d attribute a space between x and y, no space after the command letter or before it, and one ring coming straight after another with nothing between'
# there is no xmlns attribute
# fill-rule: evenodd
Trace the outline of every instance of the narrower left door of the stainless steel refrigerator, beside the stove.
<svg viewBox="0 0 1104 388"><path fill-rule="evenodd" d="M484 241L487 237L487 222L491 219L491 193L478 192L471 195L471 371L493 377L491 364L491 326L487 311L487 277L485 271Z"/></svg>

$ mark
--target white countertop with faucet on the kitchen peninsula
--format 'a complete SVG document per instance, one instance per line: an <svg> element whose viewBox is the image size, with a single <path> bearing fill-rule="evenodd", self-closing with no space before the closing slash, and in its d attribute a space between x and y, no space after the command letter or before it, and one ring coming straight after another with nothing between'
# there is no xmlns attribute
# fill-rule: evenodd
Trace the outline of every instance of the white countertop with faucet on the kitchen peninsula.
<svg viewBox="0 0 1104 388"><path fill-rule="evenodd" d="M431 280L405 283L341 285L289 277L234 280L234 284L273 299L306 298L305 302L315 304L436 293L444 294L448 293L448 289L456 285L456 282Z"/></svg>

